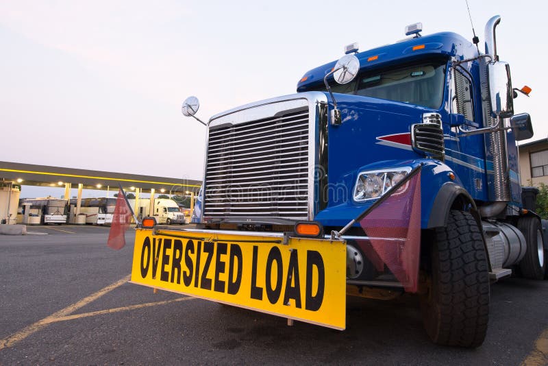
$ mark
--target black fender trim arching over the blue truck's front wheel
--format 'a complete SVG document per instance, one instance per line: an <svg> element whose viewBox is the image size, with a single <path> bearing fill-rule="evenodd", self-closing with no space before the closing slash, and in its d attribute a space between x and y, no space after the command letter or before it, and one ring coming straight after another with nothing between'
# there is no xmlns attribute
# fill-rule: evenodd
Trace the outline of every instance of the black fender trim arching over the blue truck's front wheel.
<svg viewBox="0 0 548 366"><path fill-rule="evenodd" d="M444 183L438 191L436 199L434 199L427 228L439 228L447 225L449 210L453 208L453 204L458 199L460 199L462 206L470 204L472 210L476 210L475 202L466 189L453 182Z"/></svg>

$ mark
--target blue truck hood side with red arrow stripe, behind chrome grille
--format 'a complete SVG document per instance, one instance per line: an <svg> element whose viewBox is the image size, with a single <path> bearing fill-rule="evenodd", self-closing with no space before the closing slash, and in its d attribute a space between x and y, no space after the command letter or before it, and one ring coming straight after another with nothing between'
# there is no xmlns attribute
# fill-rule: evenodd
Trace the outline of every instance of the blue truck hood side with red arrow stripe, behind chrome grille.
<svg viewBox="0 0 548 366"><path fill-rule="evenodd" d="M332 187L328 206L352 201L359 171L401 166L400 162L424 158L412 149L411 125L422 123L423 113L436 112L371 97L334 97L343 123L329 125L328 130L328 184Z"/></svg>

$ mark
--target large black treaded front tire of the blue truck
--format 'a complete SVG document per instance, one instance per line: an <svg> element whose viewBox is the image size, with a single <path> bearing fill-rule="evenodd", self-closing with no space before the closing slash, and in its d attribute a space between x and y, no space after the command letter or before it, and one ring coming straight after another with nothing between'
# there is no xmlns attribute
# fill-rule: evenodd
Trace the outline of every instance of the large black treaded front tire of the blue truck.
<svg viewBox="0 0 548 366"><path fill-rule="evenodd" d="M487 332L489 275L483 236L469 212L451 210L429 248L423 323L441 345L478 347ZM427 243L423 243L427 245ZM427 256L428 257L428 256Z"/></svg>

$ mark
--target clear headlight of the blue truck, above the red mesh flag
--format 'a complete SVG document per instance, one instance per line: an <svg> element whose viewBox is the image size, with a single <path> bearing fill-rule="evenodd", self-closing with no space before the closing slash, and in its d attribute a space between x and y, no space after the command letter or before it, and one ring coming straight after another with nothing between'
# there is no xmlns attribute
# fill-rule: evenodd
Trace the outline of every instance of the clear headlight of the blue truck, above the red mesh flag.
<svg viewBox="0 0 548 366"><path fill-rule="evenodd" d="M374 199L386 193L401 182L411 171L411 167L397 169L362 171L354 186L354 200L358 202Z"/></svg>

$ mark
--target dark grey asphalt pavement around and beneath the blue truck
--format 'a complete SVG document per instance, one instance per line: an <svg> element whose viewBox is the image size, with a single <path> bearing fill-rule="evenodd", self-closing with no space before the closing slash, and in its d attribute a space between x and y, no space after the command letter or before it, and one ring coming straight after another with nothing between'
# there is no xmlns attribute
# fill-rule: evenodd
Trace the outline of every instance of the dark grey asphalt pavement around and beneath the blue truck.
<svg viewBox="0 0 548 366"><path fill-rule="evenodd" d="M0 236L0 365L546 363L548 281L491 287L482 347L432 344L415 297L349 297L347 330L159 291L127 282L134 231L120 251L108 228L55 225ZM545 333L545 334L548 334ZM540 338L539 338L540 337ZM531 358L536 356L536 358ZM530 358L527 358L530 357Z"/></svg>

